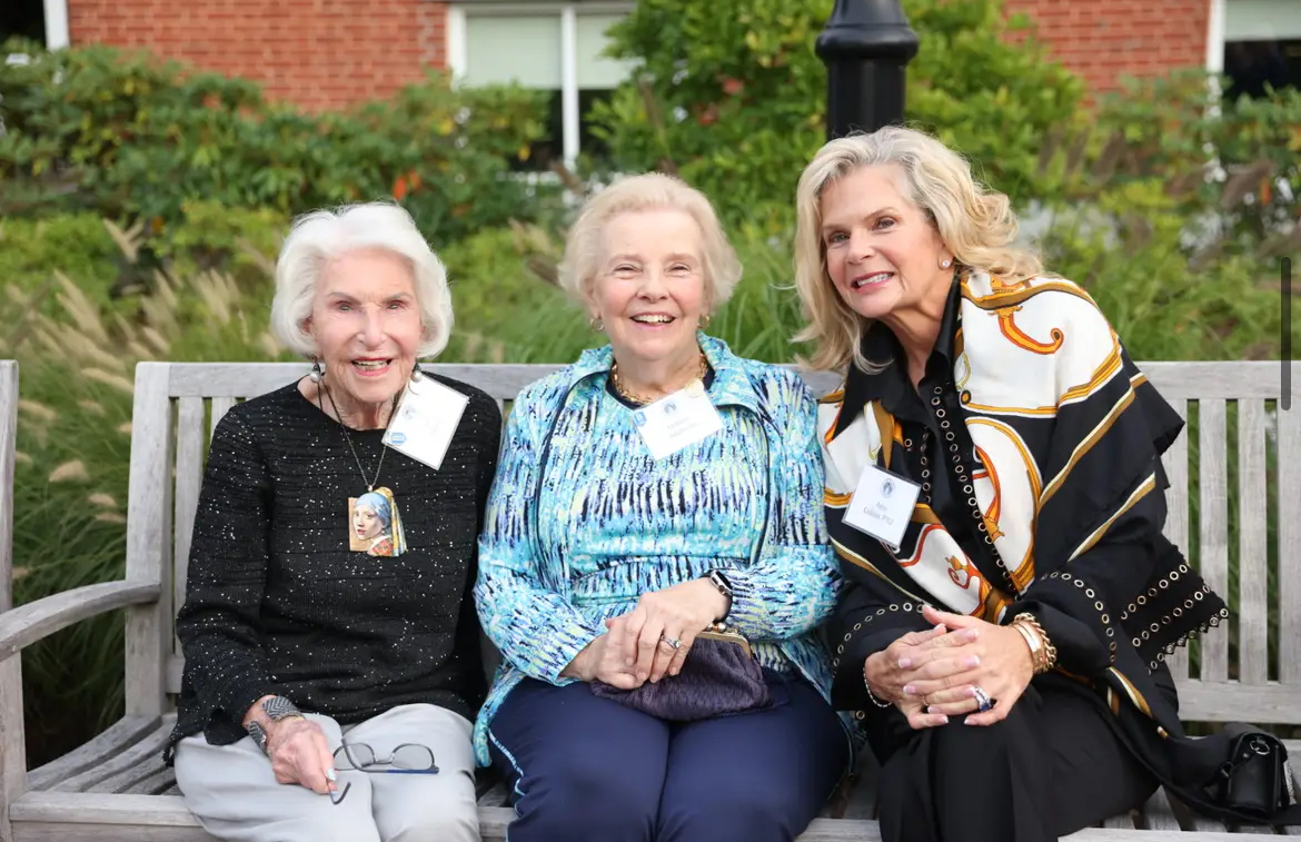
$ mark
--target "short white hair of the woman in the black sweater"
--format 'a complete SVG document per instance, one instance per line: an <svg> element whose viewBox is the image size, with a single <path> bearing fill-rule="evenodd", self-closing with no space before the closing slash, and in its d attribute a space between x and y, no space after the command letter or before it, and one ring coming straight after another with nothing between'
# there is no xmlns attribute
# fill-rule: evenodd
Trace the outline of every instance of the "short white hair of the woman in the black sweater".
<svg viewBox="0 0 1301 842"><path fill-rule="evenodd" d="M423 336L416 357L437 357L451 336L448 271L415 220L393 202L346 204L294 220L276 260L271 329L282 345L312 359L320 354L304 323L312 315L316 284L329 263L358 249L381 249L411 267Z"/></svg>

